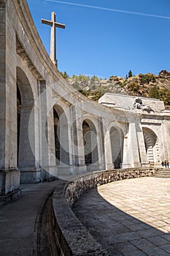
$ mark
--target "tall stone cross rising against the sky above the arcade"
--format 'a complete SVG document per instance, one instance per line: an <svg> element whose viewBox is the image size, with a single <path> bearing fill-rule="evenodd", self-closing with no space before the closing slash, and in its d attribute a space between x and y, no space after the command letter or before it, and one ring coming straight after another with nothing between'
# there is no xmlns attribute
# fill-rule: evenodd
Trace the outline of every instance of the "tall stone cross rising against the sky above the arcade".
<svg viewBox="0 0 170 256"><path fill-rule="evenodd" d="M66 25L55 22L55 12L51 12L51 20L42 19L42 23L51 26L50 58L52 59L53 64L57 67L55 27L65 29Z"/></svg>

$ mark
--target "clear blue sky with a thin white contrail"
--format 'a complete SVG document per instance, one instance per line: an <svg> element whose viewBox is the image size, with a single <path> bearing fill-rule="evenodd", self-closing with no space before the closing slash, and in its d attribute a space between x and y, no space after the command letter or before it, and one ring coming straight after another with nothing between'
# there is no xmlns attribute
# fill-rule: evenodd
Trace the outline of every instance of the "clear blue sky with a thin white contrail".
<svg viewBox="0 0 170 256"><path fill-rule="evenodd" d="M125 77L170 71L169 0L28 0L36 29L50 53L50 26L57 29L58 70L69 75Z"/></svg>

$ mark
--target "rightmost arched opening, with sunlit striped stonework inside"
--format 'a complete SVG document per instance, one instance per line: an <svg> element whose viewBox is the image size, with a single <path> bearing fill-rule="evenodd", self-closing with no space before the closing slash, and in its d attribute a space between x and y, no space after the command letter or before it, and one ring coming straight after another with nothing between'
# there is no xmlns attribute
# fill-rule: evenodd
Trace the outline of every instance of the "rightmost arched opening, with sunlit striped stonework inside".
<svg viewBox="0 0 170 256"><path fill-rule="evenodd" d="M148 162L150 165L155 165L158 162L159 150L158 150L158 138L151 129L144 127L144 145L147 152Z"/></svg>

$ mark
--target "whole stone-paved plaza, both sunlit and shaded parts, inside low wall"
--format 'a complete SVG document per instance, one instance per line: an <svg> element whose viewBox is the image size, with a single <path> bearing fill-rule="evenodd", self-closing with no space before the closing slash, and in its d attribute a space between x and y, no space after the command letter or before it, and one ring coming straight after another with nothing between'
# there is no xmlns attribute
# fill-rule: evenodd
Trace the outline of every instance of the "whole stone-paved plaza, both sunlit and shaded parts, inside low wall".
<svg viewBox="0 0 170 256"><path fill-rule="evenodd" d="M170 255L170 178L134 178L91 189L74 212L109 255Z"/></svg>

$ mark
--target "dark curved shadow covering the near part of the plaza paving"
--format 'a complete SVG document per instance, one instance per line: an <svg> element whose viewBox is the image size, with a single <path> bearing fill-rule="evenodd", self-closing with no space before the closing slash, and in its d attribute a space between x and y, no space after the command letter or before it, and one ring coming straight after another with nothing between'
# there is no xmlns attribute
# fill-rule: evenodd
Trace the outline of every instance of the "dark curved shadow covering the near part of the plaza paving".
<svg viewBox="0 0 170 256"><path fill-rule="evenodd" d="M170 233L112 206L98 189L82 195L72 210L110 255L170 255Z"/></svg>

